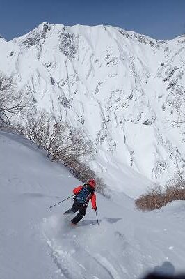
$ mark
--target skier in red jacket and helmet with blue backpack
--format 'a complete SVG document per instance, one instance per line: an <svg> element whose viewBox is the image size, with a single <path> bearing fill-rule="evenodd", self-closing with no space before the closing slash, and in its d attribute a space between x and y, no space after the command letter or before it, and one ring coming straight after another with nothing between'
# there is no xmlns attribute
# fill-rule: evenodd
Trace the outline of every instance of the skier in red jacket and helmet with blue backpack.
<svg viewBox="0 0 185 279"><path fill-rule="evenodd" d="M71 220L71 225L75 226L77 223L86 215L86 210L88 207L88 202L91 200L92 207L95 211L97 211L96 205L96 194L95 194L95 179L90 179L88 183L83 186L78 186L73 189L74 193L74 203L72 208L65 211L64 215L72 214L77 211L79 213Z"/></svg>

